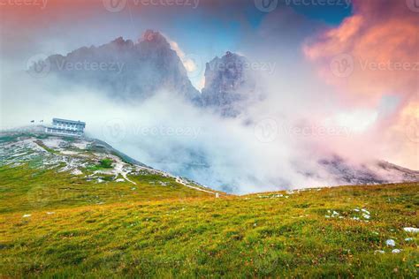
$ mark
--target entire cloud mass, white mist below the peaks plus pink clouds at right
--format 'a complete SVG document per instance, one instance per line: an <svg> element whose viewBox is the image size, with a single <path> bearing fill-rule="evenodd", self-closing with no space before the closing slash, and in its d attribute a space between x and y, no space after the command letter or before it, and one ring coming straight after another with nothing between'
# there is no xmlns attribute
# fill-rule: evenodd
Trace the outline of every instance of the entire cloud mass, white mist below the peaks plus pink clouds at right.
<svg viewBox="0 0 419 279"><path fill-rule="evenodd" d="M258 30L243 31L239 52L265 98L235 118L170 91L116 102L4 59L1 125L80 119L88 135L138 161L228 192L341 184L318 163L333 155L354 166L382 159L417 170L417 72L369 64L417 62L417 17L400 3L354 1L353 16L337 27L272 11Z"/></svg>

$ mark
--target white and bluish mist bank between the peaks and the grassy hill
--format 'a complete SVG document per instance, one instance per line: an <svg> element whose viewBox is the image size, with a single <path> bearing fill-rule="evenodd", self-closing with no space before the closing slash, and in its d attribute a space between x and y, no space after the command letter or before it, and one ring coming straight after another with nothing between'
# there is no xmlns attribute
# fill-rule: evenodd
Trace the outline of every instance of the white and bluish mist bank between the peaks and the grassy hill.
<svg viewBox="0 0 419 279"><path fill-rule="evenodd" d="M228 192L335 185L317 161L331 155L326 142L353 136L346 126L304 121L299 109L284 114L274 97L246 115L225 118L170 92L126 103L93 88L27 74L5 85L14 94L3 95L4 128L52 117L80 119L89 136L140 162Z"/></svg>

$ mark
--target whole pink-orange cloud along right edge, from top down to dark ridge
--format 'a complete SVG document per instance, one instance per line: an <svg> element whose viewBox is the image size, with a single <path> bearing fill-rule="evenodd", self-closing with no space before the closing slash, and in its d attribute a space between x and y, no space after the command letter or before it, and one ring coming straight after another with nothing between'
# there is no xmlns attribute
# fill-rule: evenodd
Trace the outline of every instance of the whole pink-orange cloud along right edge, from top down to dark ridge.
<svg viewBox="0 0 419 279"><path fill-rule="evenodd" d="M353 16L303 46L321 79L350 108L400 101L365 134L385 159L419 169L419 13L406 1L355 0Z"/></svg>

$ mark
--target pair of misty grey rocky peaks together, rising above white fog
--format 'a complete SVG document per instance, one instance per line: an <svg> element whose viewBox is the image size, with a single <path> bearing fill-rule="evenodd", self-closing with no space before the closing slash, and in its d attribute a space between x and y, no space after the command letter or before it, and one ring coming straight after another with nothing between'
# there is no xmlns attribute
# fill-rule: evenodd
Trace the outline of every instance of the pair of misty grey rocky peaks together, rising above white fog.
<svg viewBox="0 0 419 279"><path fill-rule="evenodd" d="M245 57L227 52L206 64L205 87L196 90L176 51L158 32L138 42L122 37L99 47L83 47L47 58L50 74L105 92L123 102L143 101L160 90L183 96L224 117L236 117L261 99Z"/></svg>

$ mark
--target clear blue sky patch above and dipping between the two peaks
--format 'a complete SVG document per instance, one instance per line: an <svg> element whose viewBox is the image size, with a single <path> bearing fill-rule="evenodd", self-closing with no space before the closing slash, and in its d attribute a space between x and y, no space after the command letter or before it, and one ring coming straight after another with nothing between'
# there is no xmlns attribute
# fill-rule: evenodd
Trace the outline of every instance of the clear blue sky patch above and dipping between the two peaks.
<svg viewBox="0 0 419 279"><path fill-rule="evenodd" d="M316 1L324 3L322 0L310 0L310 5L299 4L297 1L295 4L287 4L287 1L280 2L271 12L259 11L254 1L223 4L223 9L215 9L205 3L197 9L152 7L147 12L140 12L140 16L135 16L136 7L130 7L124 11L131 26L128 28L131 34L127 36L138 37L141 35L139 32L146 28L159 30L171 40L177 41L187 55L199 56L205 64L216 56L223 56L227 50L242 52L246 48L243 45L244 36L256 34L265 19L280 15L281 10L293 10L306 21L306 30L295 30L295 33L307 32L310 22L312 26L339 26L352 13L352 6L347 5L346 0L330 1L329 5L316 4ZM296 46L291 46L293 48ZM197 86L202 77L191 79Z"/></svg>

